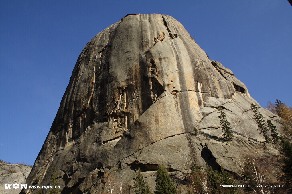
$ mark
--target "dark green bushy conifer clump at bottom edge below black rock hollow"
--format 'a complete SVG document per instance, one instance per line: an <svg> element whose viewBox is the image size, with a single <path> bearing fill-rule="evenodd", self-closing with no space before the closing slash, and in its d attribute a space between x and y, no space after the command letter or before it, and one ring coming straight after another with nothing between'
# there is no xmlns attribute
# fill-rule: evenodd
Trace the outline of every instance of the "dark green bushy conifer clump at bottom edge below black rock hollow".
<svg viewBox="0 0 292 194"><path fill-rule="evenodd" d="M208 175L210 187L212 189L211 193L227 193L227 194L238 193L236 187L224 188L224 190L221 190L222 188L216 188L217 184L229 185L236 184L236 181L234 181L230 174L225 170L222 170L222 172L219 172L217 170L214 171L210 166L207 165L206 172Z"/></svg>

